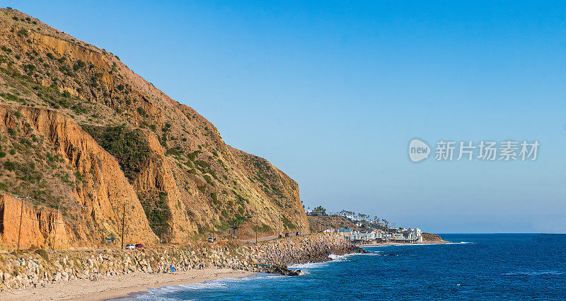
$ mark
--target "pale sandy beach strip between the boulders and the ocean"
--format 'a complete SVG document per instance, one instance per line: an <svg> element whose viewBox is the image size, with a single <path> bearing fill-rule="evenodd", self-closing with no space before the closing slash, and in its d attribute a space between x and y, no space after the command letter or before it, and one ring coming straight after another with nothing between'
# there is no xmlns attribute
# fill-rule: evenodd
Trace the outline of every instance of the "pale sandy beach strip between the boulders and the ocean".
<svg viewBox="0 0 566 301"><path fill-rule="evenodd" d="M8 290L0 293L0 300L89 300L102 301L127 297L148 288L168 285L203 283L221 278L241 278L252 275L248 271L207 268L166 274L131 273L122 276L100 277L92 280L72 280L68 283L46 285L43 288Z"/></svg>

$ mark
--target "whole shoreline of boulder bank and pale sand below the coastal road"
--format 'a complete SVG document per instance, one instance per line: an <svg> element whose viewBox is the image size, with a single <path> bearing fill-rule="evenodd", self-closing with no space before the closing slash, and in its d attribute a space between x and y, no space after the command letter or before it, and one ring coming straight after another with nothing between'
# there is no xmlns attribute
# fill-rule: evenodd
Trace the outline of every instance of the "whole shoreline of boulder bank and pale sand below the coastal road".
<svg viewBox="0 0 566 301"><path fill-rule="evenodd" d="M168 285L242 278L255 273L294 276L289 263L327 261L330 254L364 252L342 237L317 234L258 244L165 246L142 250L2 254L0 300L111 300ZM171 268L174 268L171 269ZM171 273L171 271L176 271Z"/></svg>

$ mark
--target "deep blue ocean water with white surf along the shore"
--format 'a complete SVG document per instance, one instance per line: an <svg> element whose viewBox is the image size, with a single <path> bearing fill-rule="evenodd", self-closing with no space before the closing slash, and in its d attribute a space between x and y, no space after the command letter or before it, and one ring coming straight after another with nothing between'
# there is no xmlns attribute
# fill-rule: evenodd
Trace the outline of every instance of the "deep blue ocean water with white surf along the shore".
<svg viewBox="0 0 566 301"><path fill-rule="evenodd" d="M369 254L149 290L122 300L566 300L566 234L444 234L454 244L376 246Z"/></svg>

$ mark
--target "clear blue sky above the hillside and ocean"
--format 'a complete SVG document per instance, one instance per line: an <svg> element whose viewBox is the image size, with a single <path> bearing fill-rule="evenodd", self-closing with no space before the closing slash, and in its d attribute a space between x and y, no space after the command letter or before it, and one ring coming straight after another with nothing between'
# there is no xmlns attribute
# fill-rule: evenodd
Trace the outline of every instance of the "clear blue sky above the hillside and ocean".
<svg viewBox="0 0 566 301"><path fill-rule="evenodd" d="M566 232L563 1L0 2L118 55L294 178L307 209ZM414 138L428 159L409 159ZM540 146L437 161L441 140Z"/></svg>

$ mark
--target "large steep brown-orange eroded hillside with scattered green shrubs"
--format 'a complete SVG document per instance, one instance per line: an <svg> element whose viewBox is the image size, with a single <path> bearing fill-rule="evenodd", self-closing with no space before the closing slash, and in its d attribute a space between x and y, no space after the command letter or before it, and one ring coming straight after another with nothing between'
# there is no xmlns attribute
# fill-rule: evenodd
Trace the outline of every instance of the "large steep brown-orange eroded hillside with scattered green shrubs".
<svg viewBox="0 0 566 301"><path fill-rule="evenodd" d="M125 241L146 244L213 227L250 237L256 215L262 236L308 229L295 181L226 145L112 53L11 9L0 11L0 45L4 249L16 245L21 203L24 247L45 249L120 244L122 220Z"/></svg>

